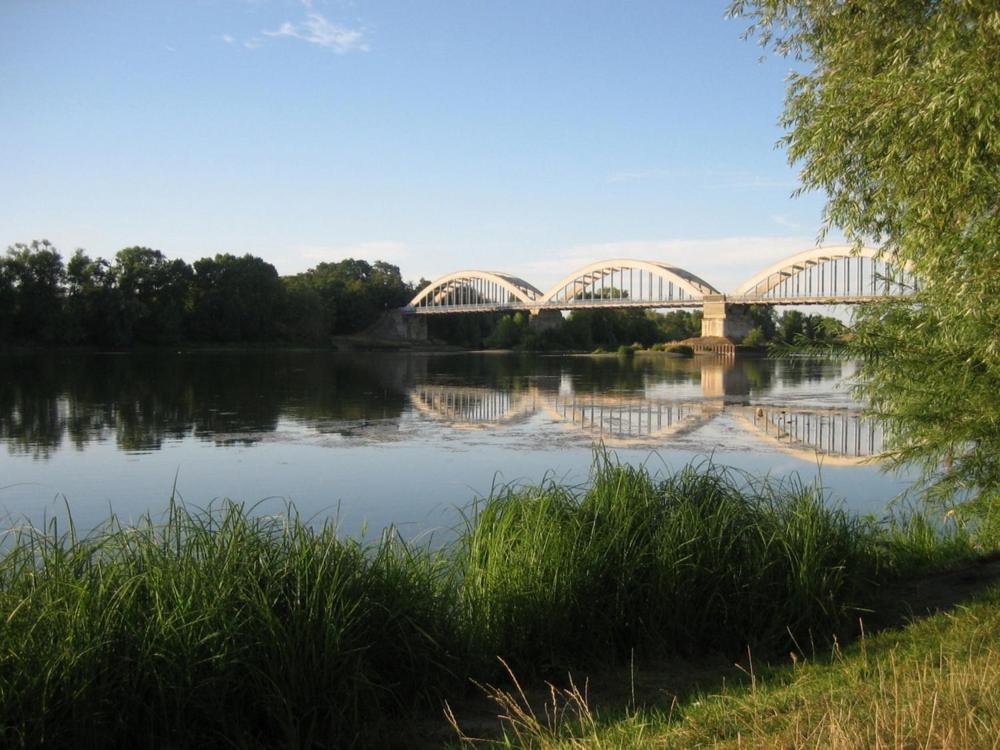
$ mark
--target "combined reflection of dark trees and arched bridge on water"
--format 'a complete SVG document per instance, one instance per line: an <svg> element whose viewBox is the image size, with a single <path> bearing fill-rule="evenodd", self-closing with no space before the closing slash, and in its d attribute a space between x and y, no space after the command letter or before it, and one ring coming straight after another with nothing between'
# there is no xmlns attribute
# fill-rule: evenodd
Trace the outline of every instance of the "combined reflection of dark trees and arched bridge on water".
<svg viewBox="0 0 1000 750"><path fill-rule="evenodd" d="M725 416L770 448L850 463L881 428L833 384L843 362L659 356L357 356L316 352L0 357L0 442L45 460L111 443L154 452L194 439L254 445L285 424L399 440L421 430L552 429L609 445L669 445Z"/></svg>

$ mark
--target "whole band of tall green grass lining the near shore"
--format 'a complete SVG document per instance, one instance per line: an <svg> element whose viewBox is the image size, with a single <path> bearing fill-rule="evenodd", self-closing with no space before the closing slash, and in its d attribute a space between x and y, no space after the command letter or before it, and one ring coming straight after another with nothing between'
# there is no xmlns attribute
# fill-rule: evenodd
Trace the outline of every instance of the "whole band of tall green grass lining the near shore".
<svg viewBox="0 0 1000 750"><path fill-rule="evenodd" d="M881 581L961 538L912 529L815 487L711 465L656 479L607 457L585 490L486 499L444 549L231 502L84 538L16 528L0 558L0 745L378 745L502 674L497 656L548 676L781 653L850 629Z"/></svg>

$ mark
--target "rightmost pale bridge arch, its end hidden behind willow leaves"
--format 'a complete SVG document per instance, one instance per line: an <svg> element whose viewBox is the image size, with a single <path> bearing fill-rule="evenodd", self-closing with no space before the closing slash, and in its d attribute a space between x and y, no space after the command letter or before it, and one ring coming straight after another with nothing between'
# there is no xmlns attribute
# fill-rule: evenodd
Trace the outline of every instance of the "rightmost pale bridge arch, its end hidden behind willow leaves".
<svg viewBox="0 0 1000 750"><path fill-rule="evenodd" d="M747 301L854 301L905 294L915 286L912 274L906 268L894 267L878 248L831 245L779 260L744 281L729 296Z"/></svg>

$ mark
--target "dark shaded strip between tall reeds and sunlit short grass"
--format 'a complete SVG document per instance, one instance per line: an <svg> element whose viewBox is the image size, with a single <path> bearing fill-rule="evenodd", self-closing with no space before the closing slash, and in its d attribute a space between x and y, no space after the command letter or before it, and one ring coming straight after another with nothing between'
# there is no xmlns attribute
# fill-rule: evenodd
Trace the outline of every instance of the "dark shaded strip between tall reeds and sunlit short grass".
<svg viewBox="0 0 1000 750"><path fill-rule="evenodd" d="M817 651L813 644L782 659L757 659L747 653L738 661L722 653L699 658L646 660L641 664L567 666L561 680L525 682L508 670L505 683L477 685L450 701L438 719L418 722L400 747L461 747L499 745L504 736L518 747L519 739L537 739L573 730L593 732L628 726L630 718L655 715L666 721L678 706L697 696L751 683L787 681L790 670L804 661L822 665L840 657L842 648L859 637L902 630L934 615L950 612L983 598L1000 584L1000 551L963 561L947 570L911 576L883 585L871 611L855 627L838 632L833 646ZM802 644L805 645L805 644ZM884 645L884 644L883 644ZM506 665L504 665L506 666ZM560 725L562 729L560 729ZM634 739L635 727L631 726ZM414 744L414 737L420 742ZM464 740L464 741L463 741Z"/></svg>

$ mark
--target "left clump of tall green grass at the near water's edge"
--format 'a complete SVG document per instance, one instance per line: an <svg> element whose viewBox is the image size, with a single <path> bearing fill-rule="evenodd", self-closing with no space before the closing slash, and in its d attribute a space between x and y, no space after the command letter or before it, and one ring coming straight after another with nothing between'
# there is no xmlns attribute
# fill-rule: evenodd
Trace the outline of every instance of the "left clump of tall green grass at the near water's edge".
<svg viewBox="0 0 1000 750"><path fill-rule="evenodd" d="M294 514L14 532L0 563L0 745L350 744L449 684L433 554Z"/></svg>

